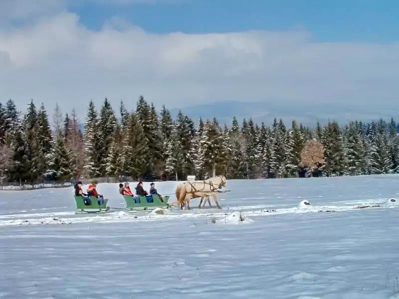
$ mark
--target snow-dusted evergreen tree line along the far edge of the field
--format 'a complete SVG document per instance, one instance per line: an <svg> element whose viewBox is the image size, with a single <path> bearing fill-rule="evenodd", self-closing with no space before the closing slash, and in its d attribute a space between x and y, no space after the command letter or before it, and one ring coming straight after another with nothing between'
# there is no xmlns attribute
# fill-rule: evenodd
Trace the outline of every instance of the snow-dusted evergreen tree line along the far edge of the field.
<svg viewBox="0 0 399 299"><path fill-rule="evenodd" d="M76 111L58 105L53 128L43 104L21 114L14 102L0 103L2 182L130 176L144 180L197 179L223 174L228 179L341 176L399 172L398 126L333 121L315 128L280 119L271 126L252 119L221 127L194 121L182 111L173 118L165 105L158 113L140 96L119 115L105 99L97 111L90 101L83 132Z"/></svg>

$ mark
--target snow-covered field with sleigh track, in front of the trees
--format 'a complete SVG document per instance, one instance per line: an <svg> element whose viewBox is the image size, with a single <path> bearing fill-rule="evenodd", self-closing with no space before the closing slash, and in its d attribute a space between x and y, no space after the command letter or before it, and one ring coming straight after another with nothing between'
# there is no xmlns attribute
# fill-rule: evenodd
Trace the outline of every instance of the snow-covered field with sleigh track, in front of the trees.
<svg viewBox="0 0 399 299"><path fill-rule="evenodd" d="M72 187L2 191L0 298L399 299L398 181L228 181L222 210L164 215L121 210L118 184L104 215L75 215Z"/></svg>

